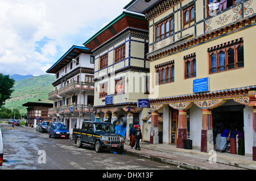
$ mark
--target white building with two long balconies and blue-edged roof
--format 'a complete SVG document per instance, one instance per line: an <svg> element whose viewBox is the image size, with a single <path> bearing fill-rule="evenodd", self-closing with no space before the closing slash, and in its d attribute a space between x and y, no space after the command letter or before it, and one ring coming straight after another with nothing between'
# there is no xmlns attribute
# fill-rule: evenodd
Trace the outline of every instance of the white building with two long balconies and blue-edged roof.
<svg viewBox="0 0 256 181"><path fill-rule="evenodd" d="M53 100L49 115L53 121L64 121L72 132L83 120L90 120L94 102L94 58L88 48L73 45L46 72L56 75L55 87L49 92Z"/></svg>

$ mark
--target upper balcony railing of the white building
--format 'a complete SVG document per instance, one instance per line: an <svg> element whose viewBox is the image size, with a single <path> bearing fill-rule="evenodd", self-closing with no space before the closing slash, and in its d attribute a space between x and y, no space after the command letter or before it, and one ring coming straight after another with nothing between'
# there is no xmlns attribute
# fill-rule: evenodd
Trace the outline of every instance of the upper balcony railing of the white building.
<svg viewBox="0 0 256 181"><path fill-rule="evenodd" d="M80 86L82 86L82 90L91 90L94 91L94 82L77 82L73 81L69 83L68 85L65 85L64 87L61 87L59 90L52 91L48 94L48 99L57 98L60 94L65 94L68 92L73 92L80 89Z"/></svg>

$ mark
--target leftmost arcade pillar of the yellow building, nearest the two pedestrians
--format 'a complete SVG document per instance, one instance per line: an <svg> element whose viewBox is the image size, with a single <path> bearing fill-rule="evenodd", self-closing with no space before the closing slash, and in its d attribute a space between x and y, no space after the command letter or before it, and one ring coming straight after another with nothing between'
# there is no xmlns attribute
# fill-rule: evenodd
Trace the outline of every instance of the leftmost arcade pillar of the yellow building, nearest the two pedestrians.
<svg viewBox="0 0 256 181"><path fill-rule="evenodd" d="M158 111L151 112L150 144L159 144L158 136Z"/></svg>

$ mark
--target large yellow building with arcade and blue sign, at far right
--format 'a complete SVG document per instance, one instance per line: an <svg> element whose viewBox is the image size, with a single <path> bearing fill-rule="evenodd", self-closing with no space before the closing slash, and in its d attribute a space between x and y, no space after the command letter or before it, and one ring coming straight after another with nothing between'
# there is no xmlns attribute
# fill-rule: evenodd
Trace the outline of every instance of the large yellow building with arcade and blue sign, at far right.
<svg viewBox="0 0 256 181"><path fill-rule="evenodd" d="M255 10L253 0L159 0L141 11L149 22L152 144L162 112L164 143L218 150L213 126L242 127L245 154L256 160Z"/></svg>

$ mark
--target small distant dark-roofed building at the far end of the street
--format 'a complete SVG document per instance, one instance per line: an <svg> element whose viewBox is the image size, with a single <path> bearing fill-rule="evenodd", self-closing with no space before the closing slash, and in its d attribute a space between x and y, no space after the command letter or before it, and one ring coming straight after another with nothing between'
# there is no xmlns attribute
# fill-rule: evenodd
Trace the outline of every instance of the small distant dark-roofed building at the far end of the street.
<svg viewBox="0 0 256 181"><path fill-rule="evenodd" d="M47 99L39 99L34 102L27 102L22 104L22 106L27 107L27 124L29 126L36 125L42 121L51 121L52 117L48 116L48 110L53 107L53 102Z"/></svg>

